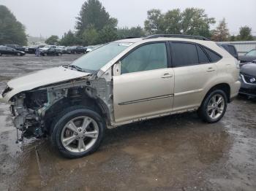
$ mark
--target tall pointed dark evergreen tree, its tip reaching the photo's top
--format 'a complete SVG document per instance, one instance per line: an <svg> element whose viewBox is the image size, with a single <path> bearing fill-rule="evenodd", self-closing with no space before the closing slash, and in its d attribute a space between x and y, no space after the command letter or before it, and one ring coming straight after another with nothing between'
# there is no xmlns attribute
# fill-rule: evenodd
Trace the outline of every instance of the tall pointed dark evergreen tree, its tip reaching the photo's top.
<svg viewBox="0 0 256 191"><path fill-rule="evenodd" d="M76 30L78 35L91 27L94 27L97 31L102 30L105 26L117 26L117 19L110 17L109 13L106 12L105 7L102 6L99 0L88 0L85 1L80 9L76 22Z"/></svg>

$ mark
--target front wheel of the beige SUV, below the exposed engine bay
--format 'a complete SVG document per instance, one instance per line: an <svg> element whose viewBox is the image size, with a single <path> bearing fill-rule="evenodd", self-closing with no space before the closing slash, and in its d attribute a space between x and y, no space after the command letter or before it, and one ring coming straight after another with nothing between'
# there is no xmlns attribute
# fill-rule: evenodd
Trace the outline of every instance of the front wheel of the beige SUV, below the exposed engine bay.
<svg viewBox="0 0 256 191"><path fill-rule="evenodd" d="M84 122L86 125L82 125ZM56 117L50 132L53 147L61 155L67 158L84 157L99 148L105 133L105 122L92 109L72 106Z"/></svg>

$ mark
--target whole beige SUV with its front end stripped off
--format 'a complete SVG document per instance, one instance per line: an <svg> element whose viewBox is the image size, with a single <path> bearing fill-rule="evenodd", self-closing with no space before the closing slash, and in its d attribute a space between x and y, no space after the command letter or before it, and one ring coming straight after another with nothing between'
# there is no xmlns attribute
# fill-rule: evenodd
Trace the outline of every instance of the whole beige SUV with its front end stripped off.
<svg viewBox="0 0 256 191"><path fill-rule="evenodd" d="M238 61L200 36L110 42L68 66L12 79L2 93L23 137L50 136L65 157L94 152L105 128L197 111L217 122L238 95Z"/></svg>

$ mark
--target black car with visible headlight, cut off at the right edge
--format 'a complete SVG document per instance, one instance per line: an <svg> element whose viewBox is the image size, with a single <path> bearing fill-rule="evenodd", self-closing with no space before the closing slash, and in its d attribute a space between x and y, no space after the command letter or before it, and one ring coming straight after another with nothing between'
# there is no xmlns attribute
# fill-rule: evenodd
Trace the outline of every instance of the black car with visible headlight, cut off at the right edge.
<svg viewBox="0 0 256 191"><path fill-rule="evenodd" d="M256 97L256 61L241 66L240 77L241 89L239 93Z"/></svg>

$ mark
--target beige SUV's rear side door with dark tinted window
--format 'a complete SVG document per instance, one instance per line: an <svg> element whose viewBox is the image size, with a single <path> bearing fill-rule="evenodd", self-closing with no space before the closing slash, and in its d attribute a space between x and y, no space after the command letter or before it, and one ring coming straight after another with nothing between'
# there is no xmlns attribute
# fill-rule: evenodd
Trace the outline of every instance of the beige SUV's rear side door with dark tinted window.
<svg viewBox="0 0 256 191"><path fill-rule="evenodd" d="M199 44L171 42L175 75L173 112L200 106L204 90L217 75L216 62L221 58Z"/></svg>

